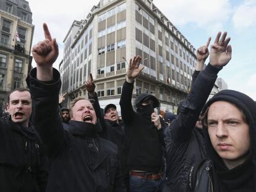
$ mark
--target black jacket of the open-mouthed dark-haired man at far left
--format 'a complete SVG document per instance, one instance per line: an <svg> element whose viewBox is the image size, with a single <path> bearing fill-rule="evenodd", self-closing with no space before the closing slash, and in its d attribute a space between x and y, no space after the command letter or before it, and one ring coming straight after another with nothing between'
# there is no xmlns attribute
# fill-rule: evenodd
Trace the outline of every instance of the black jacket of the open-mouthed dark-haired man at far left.
<svg viewBox="0 0 256 192"><path fill-rule="evenodd" d="M45 191L48 161L32 127L0 119L0 191Z"/></svg>

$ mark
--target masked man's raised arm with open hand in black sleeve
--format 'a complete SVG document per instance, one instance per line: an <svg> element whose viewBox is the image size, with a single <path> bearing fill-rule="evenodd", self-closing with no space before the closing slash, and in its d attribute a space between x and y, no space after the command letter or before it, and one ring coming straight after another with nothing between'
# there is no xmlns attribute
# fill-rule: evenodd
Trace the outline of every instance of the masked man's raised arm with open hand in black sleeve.
<svg viewBox="0 0 256 192"><path fill-rule="evenodd" d="M140 66L142 57L137 56L134 59L130 59L129 67L126 73L126 81L122 86L122 94L120 99L122 120L125 124L129 124L134 115L134 109L132 109L132 90L134 90L134 80L137 78L144 69L144 66Z"/></svg>

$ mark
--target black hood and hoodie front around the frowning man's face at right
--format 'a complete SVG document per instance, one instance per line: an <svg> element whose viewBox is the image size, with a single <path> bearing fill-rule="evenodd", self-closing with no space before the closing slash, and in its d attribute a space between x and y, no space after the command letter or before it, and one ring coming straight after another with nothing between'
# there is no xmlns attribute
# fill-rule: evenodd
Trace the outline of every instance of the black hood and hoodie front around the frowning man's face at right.
<svg viewBox="0 0 256 192"><path fill-rule="evenodd" d="M221 192L256 191L256 104L254 100L246 94L233 90L223 90L213 96L213 98L205 104L202 114L204 114L208 107L216 101L227 101L234 104L238 109L242 109L244 112L250 131L250 154L243 164L229 170L213 148L210 136L208 135L208 130L205 128L205 123L203 123L207 151L210 154L210 158L213 160L214 169L216 169L216 172L213 174L215 190Z"/></svg>

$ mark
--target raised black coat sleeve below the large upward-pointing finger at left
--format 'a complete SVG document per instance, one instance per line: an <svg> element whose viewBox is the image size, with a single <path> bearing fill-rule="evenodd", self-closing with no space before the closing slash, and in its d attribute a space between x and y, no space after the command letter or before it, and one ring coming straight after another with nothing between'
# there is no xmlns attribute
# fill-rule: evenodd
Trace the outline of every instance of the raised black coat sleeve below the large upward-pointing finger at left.
<svg viewBox="0 0 256 192"><path fill-rule="evenodd" d="M32 98L32 122L49 158L54 157L64 144L64 130L59 115L60 74L53 69L52 81L36 79L36 68L30 72L27 85Z"/></svg>

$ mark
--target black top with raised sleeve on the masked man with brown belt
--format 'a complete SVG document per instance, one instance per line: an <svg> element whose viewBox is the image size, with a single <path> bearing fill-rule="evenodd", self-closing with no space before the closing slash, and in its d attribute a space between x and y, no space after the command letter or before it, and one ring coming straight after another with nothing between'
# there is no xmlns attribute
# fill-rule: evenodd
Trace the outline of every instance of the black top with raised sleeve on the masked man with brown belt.
<svg viewBox="0 0 256 192"><path fill-rule="evenodd" d="M120 99L127 145L129 170L159 172L162 166L163 129L157 130L151 116L141 115L132 109L134 83L124 82Z"/></svg>

